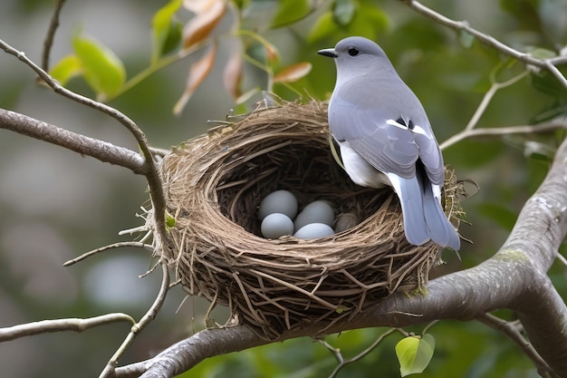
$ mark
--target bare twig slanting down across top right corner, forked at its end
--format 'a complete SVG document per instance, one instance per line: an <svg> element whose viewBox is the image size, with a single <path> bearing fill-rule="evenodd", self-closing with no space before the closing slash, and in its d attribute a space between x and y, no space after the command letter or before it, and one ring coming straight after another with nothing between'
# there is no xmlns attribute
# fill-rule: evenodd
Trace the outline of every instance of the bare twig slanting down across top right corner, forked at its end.
<svg viewBox="0 0 567 378"><path fill-rule="evenodd" d="M462 31L462 32L466 32L468 34L471 34L478 41L480 41L483 44L486 44L488 46L491 46L491 47L495 48L496 50L498 50L502 53L505 53L506 55L510 55L510 56L512 56L513 58L515 58L519 61L522 61L522 62L527 63L527 64L531 64L533 66L543 68L543 69L549 71L550 73L553 74L553 76L557 79L557 81L561 82L562 86L567 89L567 79L565 79L565 77L563 76L561 71L559 71L557 69L557 67L555 67L555 65L554 65L554 63L555 64L565 63L564 59L555 58L555 59L543 60L543 59L534 58L529 53L519 52L519 51L513 49L512 47L510 47L506 44L503 44L502 42L495 39L495 37L493 37L492 35L488 35L488 34L484 34L482 32L479 32L475 28L471 27L466 21L452 20L452 19L446 17L445 15L441 15L441 14L437 13L436 11L434 11L433 9L430 9L427 6L420 4L416 0L399 0L399 1L408 5L411 9L415 10L419 14L425 15L428 18L432 19L437 24L442 24L442 25L450 27L451 29L454 29L456 31Z"/></svg>

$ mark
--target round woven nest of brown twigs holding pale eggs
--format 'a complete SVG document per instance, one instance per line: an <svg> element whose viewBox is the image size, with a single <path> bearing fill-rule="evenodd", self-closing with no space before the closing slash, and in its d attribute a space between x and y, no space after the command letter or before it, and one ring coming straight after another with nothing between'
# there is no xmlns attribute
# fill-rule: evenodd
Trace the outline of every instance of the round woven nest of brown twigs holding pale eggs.
<svg viewBox="0 0 567 378"><path fill-rule="evenodd" d="M408 244L395 193L353 184L329 141L326 104L286 103L187 141L161 166L175 218L164 253L178 281L265 338L306 324L323 332L418 289L438 259L437 246ZM447 176L444 201L455 213L458 186ZM260 237L257 207L276 189L292 191L300 208L325 199L360 223L312 240Z"/></svg>

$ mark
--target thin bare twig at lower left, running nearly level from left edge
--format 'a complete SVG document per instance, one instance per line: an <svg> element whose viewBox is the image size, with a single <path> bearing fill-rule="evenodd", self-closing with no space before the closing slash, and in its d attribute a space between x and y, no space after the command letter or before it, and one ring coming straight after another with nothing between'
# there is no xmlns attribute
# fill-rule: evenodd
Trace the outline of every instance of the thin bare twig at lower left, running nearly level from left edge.
<svg viewBox="0 0 567 378"><path fill-rule="evenodd" d="M130 315L114 313L94 316L87 319L69 318L42 320L40 322L14 325L12 327L0 328L0 343L15 340L24 336L34 334L47 334L62 331L82 332L99 325L110 325L111 323L128 322L134 325L136 322Z"/></svg>

